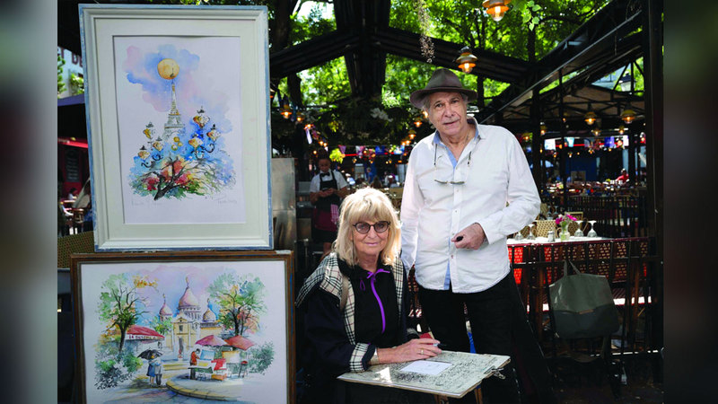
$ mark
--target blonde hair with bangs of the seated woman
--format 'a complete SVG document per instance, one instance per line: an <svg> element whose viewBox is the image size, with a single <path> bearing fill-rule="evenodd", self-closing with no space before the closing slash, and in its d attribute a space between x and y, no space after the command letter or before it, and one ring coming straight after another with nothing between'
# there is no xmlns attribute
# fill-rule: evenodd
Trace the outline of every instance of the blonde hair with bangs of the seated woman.
<svg viewBox="0 0 718 404"><path fill-rule="evenodd" d="M401 248L401 225L398 215L389 198L377 189L364 188L344 198L339 215L339 228L337 240L332 249L337 252L340 259L349 265L356 265L357 257L350 235L357 222L389 222L387 245L381 250L380 259L384 265L394 265Z"/></svg>

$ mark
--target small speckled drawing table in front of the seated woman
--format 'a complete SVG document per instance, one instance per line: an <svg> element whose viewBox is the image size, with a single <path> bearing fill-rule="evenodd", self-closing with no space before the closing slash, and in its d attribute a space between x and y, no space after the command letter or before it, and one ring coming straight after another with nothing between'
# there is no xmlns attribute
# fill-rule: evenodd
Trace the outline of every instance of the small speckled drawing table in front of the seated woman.
<svg viewBox="0 0 718 404"><path fill-rule="evenodd" d="M448 402L449 398L460 399L468 391L475 391L477 403L480 404L483 401L481 382L495 371L503 368L510 360L509 356L445 350L438 356L421 361L375 364L364 372L347 372L337 379L345 382L425 392L433 394L437 403ZM432 362L442 363L443 366L448 364L448 367L435 374L405 370L409 364L416 366L428 363L426 367L430 368Z"/></svg>

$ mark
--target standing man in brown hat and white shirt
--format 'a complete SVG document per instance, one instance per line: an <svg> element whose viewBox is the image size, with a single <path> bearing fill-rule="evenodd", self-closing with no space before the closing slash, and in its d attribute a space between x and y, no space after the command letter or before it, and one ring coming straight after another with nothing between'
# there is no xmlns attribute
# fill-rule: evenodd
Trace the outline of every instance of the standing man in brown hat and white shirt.
<svg viewBox="0 0 718 404"><path fill-rule="evenodd" d="M550 375L506 248L506 236L536 218L540 198L512 133L468 118L468 101L476 98L447 69L434 71L425 88L411 94L436 131L414 147L408 162L401 258L416 269L419 302L434 338L449 350L468 352L466 304L477 352L512 356L530 376L532 386L524 384L524 391L550 402ZM512 366L503 375L484 382L486 399L520 402Z"/></svg>

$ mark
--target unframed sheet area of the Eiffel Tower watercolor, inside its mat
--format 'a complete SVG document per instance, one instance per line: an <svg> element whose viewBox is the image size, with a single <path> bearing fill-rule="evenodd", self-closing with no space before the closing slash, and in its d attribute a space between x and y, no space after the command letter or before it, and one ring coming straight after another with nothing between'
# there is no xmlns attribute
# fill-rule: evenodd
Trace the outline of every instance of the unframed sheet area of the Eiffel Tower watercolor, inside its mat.
<svg viewBox="0 0 718 404"><path fill-rule="evenodd" d="M242 223L239 39L115 46L126 223Z"/></svg>

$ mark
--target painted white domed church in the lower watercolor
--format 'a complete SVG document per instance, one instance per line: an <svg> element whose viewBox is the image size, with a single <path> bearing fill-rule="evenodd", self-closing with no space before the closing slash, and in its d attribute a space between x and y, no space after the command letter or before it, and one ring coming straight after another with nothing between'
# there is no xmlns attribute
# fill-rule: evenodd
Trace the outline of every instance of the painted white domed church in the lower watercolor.
<svg viewBox="0 0 718 404"><path fill-rule="evenodd" d="M185 280L187 287L177 304L177 312L172 312L166 298L159 312L160 321L169 319L172 324L170 335L165 336L165 348L171 349L178 358L189 357L189 349L194 347L197 340L222 332L215 312L209 308L209 299L206 302L206 310L202 312L197 297L189 287L189 278Z"/></svg>

